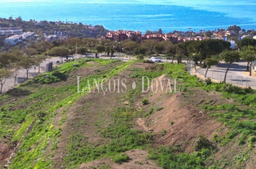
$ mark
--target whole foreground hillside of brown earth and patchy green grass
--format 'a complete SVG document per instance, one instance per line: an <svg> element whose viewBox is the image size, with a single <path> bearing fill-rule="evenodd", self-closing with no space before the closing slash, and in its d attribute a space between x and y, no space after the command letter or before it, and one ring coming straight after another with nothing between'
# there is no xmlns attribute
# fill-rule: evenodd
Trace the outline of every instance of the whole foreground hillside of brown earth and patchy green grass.
<svg viewBox="0 0 256 169"><path fill-rule="evenodd" d="M0 95L1 166L256 167L254 90L206 84L178 64L77 64L61 64L49 79L40 75ZM142 76L152 82L144 93ZM94 79L106 80L96 86Z"/></svg>

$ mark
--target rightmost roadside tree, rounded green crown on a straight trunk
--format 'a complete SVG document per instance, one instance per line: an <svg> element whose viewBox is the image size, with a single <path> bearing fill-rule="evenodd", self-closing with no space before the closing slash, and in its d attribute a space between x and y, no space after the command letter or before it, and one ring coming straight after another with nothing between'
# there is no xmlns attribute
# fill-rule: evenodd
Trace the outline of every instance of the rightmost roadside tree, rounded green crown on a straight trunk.
<svg viewBox="0 0 256 169"><path fill-rule="evenodd" d="M249 63L249 66L250 66L249 76L252 76L252 62L255 61L256 59L255 47L253 46L243 47L240 55L242 59L246 60Z"/></svg>

